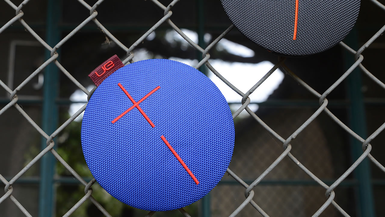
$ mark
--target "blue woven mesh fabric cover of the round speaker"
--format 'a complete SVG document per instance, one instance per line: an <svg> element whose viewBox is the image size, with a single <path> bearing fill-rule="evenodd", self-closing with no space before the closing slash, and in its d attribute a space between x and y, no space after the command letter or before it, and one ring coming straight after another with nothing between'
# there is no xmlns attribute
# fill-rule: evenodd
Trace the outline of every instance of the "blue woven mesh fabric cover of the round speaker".
<svg viewBox="0 0 385 217"><path fill-rule="evenodd" d="M133 103L161 88L114 124ZM198 185L162 141L179 154ZM172 60L143 60L120 68L92 94L82 131L85 161L116 199L144 210L179 209L201 199L221 180L234 147L226 99L200 71Z"/></svg>

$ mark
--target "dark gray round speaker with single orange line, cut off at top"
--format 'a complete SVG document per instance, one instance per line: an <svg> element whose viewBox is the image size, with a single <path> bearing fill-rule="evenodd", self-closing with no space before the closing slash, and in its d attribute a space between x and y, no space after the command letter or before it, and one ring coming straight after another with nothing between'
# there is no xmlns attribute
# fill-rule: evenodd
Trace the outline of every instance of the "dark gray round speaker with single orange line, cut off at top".
<svg viewBox="0 0 385 217"><path fill-rule="evenodd" d="M352 30L360 0L221 0L231 22L273 53L307 56L328 50Z"/></svg>

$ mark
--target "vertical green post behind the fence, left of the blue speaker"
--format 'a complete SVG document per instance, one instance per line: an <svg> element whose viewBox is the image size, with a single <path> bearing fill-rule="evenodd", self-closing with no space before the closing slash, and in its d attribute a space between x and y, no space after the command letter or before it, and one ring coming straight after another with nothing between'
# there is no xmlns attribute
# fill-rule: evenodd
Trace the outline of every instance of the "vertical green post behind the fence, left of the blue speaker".
<svg viewBox="0 0 385 217"><path fill-rule="evenodd" d="M45 42L54 47L59 42L59 5L60 1L49 0L47 4L47 22ZM50 51L45 51L45 59L50 58ZM59 86L59 69L50 63L44 72L42 129L51 134L57 128L58 108L55 104ZM41 149L47 147L47 139L42 138ZM54 156L48 152L40 159L39 217L54 216Z"/></svg>

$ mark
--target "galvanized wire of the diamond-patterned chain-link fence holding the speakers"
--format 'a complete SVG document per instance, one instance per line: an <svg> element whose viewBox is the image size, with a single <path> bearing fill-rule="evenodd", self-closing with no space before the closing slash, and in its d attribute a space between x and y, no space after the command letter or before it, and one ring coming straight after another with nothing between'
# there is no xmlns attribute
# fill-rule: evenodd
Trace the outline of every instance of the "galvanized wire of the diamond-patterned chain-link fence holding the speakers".
<svg viewBox="0 0 385 217"><path fill-rule="evenodd" d="M249 89L246 93L243 93L238 88L236 88L233 84L231 84L229 81L227 81L222 75L220 71L217 71L211 64L210 64L210 54L209 51L222 39L226 34L231 31L234 26L230 25L221 35L218 36L213 42L211 42L206 48L202 48L197 43L194 43L189 37L187 37L180 28L178 28L173 22L172 22L172 7L176 5L179 0L173 0L169 5L163 5L157 0L151 0L151 2L154 3L157 7L164 10L164 16L156 22L144 35L142 35L135 43L133 43L131 46L127 47L121 41L119 41L118 38L115 38L115 36L110 33L110 31L105 28L102 23L100 23L97 20L97 8L104 0L97 1L94 5L89 5L83 0L78 0L78 2L83 5L87 10L89 10L89 17L87 17L82 23L80 23L74 30L72 30L67 36L65 36L59 43L57 43L54 47L49 46L29 25L28 23L23 19L23 11L22 8L24 5L26 5L29 0L24 0L20 5L15 5L12 3L11 0L5 0L8 5L10 5L15 10L15 17L10 19L5 25L3 25L0 28L0 33L2 33L5 29L10 27L15 22L20 22L25 30L30 33L41 45L44 46L45 49L47 49L50 52L50 58L47 59L42 65L40 65L39 68L37 68L30 76L28 76L27 79L25 79L22 83L20 83L15 89L10 89L3 81L0 80L0 85L3 89L5 89L10 94L10 102L4 106L0 110L0 115L3 114L7 109L11 108L12 106L15 107L20 114L35 128L45 139L47 139L47 147L42 150L37 156L35 156L32 161L30 161L20 172L18 172L15 176L10 179L8 182L1 174L0 174L0 180L5 184L4 192L5 194L2 195L0 198L0 203L3 202L5 199L9 198L12 200L13 203L17 205L17 207L25 214L26 216L31 216L28 213L28 210L26 210L20 202L18 202L17 198L15 198L12 195L13 192L13 184L23 176L23 174L30 169L30 167L33 166L33 164L36 164L39 159L42 158L45 154L49 155L52 154L61 164L64 165L64 167L77 179L81 184L83 184L84 187L84 197L80 199L74 206L68 210L68 212L64 216L69 216L72 214L82 203L85 202L85 200L92 201L93 204L105 215L105 216L111 216L103 207L99 204L97 200L94 199L92 196L92 185L95 183L95 179L92 179L90 182L86 182L79 174L71 167L67 162L63 160L63 158L54 150L54 138L63 131L64 128L66 128L74 119L79 116L86 108L87 103L84 104L84 106L79 109L74 115L72 115L67 121L65 121L59 128L57 128L54 133L47 134L38 124L33 121L30 116L28 116L27 113L19 106L18 104L18 96L17 93L20 91L25 84L31 81L31 79L35 76L37 76L39 73L42 72L42 70L49 65L50 63L54 63L57 68L60 69L62 73L64 73L65 76L67 76L79 89L84 91L84 93L88 94L88 99L92 95L93 91L87 91L87 89L77 81L69 71L65 69L64 66L60 64L60 62L57 60L59 55L57 53L57 50L62 47L73 35L75 35L79 30L81 30L87 23L95 23L95 25L102 30L107 37L110 38L110 40L114 41L116 45L118 45L122 50L124 50L127 54L126 58L122 61L124 64L133 63L134 61L132 58L134 57L133 50L144 40L147 36L149 36L153 31L157 29L160 25L163 23L167 23L172 29L174 29L179 35L184 38L192 47L194 47L196 50L202 53L202 60L199 61L199 63L195 66L195 68L200 68L203 65L206 65L218 78L220 78L224 83L226 83L231 89L233 89L236 93L238 93L240 96L242 96L242 106L238 108L233 114L233 118L236 118L242 111L246 110L248 114L253 117L269 134L271 134L272 137L275 139L278 139L281 142L282 145L282 153L280 156L276 158L276 160L268 167L266 170L250 184L246 184L240 177L237 176L237 171L232 171L230 168L227 170L228 174L233 177L237 182L239 182L239 185L244 187L244 196L245 199L243 202L241 202L235 210L233 210L232 214L230 216L236 216L239 214L241 210L244 209L244 207L248 204L251 204L256 212L259 212L263 216L269 216L267 212L265 212L259 205L253 200L255 197L254 194L254 187L256 187L261 180L264 179L264 177L271 172L275 167L284 159L285 157L288 157L293 161L293 164L297 165L302 171L304 171L311 179L313 179L315 182L319 184L319 186L322 186L325 188L325 203L319 207L318 210L314 213L313 216L319 216L328 206L335 207L338 212L340 212L343 216L349 216L345 210L343 210L335 201L335 195L338 194L338 192L335 192L334 189L349 175L351 174L355 168L365 159L368 158L375 166L377 166L382 172L385 172L385 167L380 164L371 154L372 151L372 145L370 142L378 135L380 134L383 129L385 128L385 123L383 123L374 133L372 133L367 138L362 138L358 136L352 129L350 129L345 123L340 121L331 111L328 109L328 99L327 96L338 86L341 84L342 81L345 80L345 78L352 73L353 70L359 68L364 75L366 75L368 78L373 80L375 83L377 83L381 88L385 89L385 84L378 80L370 71L368 71L365 66L362 65L363 61L363 51L365 51L368 46L373 43L384 31L385 31L385 25L378 30L375 35L372 36L363 46L361 46L357 51L353 50L349 46L347 46L345 43L341 42L340 46L343 47L346 51L351 53L352 58L354 57L355 62L353 65L350 66L350 68L343 73L343 75L335 81L324 93L318 93L313 89L311 86L306 84L301 78L296 76L295 72L291 71L286 65L285 65L285 58L278 58L277 63L274 65L271 70L266 73L266 75L261 78L251 89ZM377 0L370 0L373 4L375 4L377 7L384 10L385 13L385 6L378 2ZM283 68L283 70L291 76L293 80L295 80L298 84L300 84L304 90L309 91L314 98L318 99L319 101L319 108L298 128L296 129L288 138L281 137L278 133L274 131L274 129L271 129L267 124L264 123L264 121L259 118L249 107L248 105L251 103L249 95L252 94L277 68ZM348 134L353 136L357 141L359 141L362 144L362 154L360 157L355 159L355 162L330 186L325 184L321 179L319 179L317 176L313 174L312 171L307 169L303 164L301 164L300 161L297 160L293 154L291 154L291 149L295 148L292 147L290 142L292 142L298 134L300 134L320 113L326 113L335 123L337 123L343 130L345 130ZM60 196L60 195L59 195ZM184 209L179 209L181 214L184 216L190 216ZM153 215L155 212L149 212L147 216Z"/></svg>

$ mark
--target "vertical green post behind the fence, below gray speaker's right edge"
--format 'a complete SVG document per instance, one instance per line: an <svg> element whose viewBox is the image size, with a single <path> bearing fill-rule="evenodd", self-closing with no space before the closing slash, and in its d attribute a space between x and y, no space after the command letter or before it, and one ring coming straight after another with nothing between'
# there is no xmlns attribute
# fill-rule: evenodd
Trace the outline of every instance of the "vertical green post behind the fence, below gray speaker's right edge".
<svg viewBox="0 0 385 217"><path fill-rule="evenodd" d="M352 32L345 38L345 43L351 48L358 50L358 35L357 29L354 28ZM345 51L345 68L353 65L354 59L352 54ZM361 71L356 68L347 78L347 96L350 99L349 106L349 120L350 129L357 133L362 138L367 138L367 124L365 115L365 104L362 94ZM352 162L356 161L363 153L362 143L350 137L350 150L352 155ZM370 161L368 158L364 159L360 165L353 171L355 179L358 181L357 195L357 216L374 217L375 209L373 202L372 179L370 172Z"/></svg>

